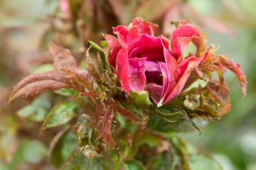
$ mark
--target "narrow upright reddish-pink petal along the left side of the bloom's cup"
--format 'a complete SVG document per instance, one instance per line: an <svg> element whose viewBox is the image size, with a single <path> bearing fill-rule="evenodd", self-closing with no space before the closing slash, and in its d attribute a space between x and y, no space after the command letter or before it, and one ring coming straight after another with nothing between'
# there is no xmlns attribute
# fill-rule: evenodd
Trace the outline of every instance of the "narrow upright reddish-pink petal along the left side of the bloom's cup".
<svg viewBox="0 0 256 170"><path fill-rule="evenodd" d="M117 77L120 78L122 89L124 92L130 92L129 78L128 78L128 50L126 48L122 48L119 50L117 54L117 63L116 63L116 71Z"/></svg>

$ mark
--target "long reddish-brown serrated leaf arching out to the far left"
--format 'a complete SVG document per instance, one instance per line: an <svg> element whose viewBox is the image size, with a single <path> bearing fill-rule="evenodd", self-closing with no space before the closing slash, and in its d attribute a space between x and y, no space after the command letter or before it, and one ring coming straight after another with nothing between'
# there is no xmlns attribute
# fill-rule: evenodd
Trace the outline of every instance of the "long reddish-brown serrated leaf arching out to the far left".
<svg viewBox="0 0 256 170"><path fill-rule="evenodd" d="M44 73L32 74L24 78L14 87L9 97L9 102L17 97L35 96L43 90L59 90L71 87L68 78L63 77L58 71L47 71Z"/></svg>

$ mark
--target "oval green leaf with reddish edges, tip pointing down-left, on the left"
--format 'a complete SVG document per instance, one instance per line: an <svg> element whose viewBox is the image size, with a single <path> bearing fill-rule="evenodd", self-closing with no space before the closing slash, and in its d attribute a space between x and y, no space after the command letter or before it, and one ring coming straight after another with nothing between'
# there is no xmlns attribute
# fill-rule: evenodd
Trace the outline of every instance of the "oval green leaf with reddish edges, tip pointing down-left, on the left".
<svg viewBox="0 0 256 170"><path fill-rule="evenodd" d="M75 117L75 108L77 107L75 102L60 102L47 114L42 129L61 126L69 122Z"/></svg>

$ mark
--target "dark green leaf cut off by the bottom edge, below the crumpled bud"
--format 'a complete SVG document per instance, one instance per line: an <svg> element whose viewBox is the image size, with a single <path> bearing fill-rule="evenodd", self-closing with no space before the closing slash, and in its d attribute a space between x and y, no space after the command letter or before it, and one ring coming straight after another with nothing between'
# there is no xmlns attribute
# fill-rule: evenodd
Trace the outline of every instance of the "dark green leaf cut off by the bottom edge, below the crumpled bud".
<svg viewBox="0 0 256 170"><path fill-rule="evenodd" d="M114 163L107 157L86 159L81 152L75 151L60 170L109 170L113 167Z"/></svg>

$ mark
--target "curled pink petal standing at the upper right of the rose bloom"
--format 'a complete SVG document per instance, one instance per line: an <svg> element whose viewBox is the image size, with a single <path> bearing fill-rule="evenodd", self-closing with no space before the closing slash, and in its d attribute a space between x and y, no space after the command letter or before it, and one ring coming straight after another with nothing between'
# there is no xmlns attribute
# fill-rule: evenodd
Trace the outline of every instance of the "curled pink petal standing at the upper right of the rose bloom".
<svg viewBox="0 0 256 170"><path fill-rule="evenodd" d="M184 25L180 26L172 32L172 56L176 59L183 60L184 50L187 44L190 43L194 38L200 37L200 31L194 26Z"/></svg>

